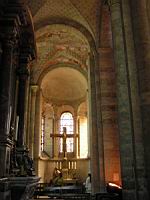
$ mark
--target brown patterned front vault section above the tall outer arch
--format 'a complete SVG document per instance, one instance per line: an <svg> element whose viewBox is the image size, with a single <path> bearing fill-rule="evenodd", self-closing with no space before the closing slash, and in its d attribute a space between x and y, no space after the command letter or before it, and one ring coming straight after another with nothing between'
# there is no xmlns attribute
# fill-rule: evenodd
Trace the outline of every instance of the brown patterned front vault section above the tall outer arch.
<svg viewBox="0 0 150 200"><path fill-rule="evenodd" d="M50 18L66 18L82 24L95 37L99 33L100 0L28 0L36 26Z"/></svg>

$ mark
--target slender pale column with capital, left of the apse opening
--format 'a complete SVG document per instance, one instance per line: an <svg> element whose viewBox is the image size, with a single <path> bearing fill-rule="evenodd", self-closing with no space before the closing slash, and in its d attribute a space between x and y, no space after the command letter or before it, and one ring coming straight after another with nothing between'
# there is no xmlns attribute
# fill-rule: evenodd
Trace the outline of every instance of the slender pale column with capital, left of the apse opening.
<svg viewBox="0 0 150 200"><path fill-rule="evenodd" d="M36 105L36 93L38 90L37 85L31 86L31 114L30 114L30 144L29 144L29 150L30 150L30 156L33 158L34 156L34 137L35 137L35 105Z"/></svg>

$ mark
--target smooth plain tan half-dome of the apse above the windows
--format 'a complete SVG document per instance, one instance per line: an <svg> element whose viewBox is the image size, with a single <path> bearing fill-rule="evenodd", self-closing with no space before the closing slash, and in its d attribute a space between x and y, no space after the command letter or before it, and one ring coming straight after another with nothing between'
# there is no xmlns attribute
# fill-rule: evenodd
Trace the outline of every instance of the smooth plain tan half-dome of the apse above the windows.
<svg viewBox="0 0 150 200"><path fill-rule="evenodd" d="M69 83L69 84L68 84ZM58 67L48 72L41 84L43 97L47 102L60 104L80 103L86 99L87 81L75 69Z"/></svg>

